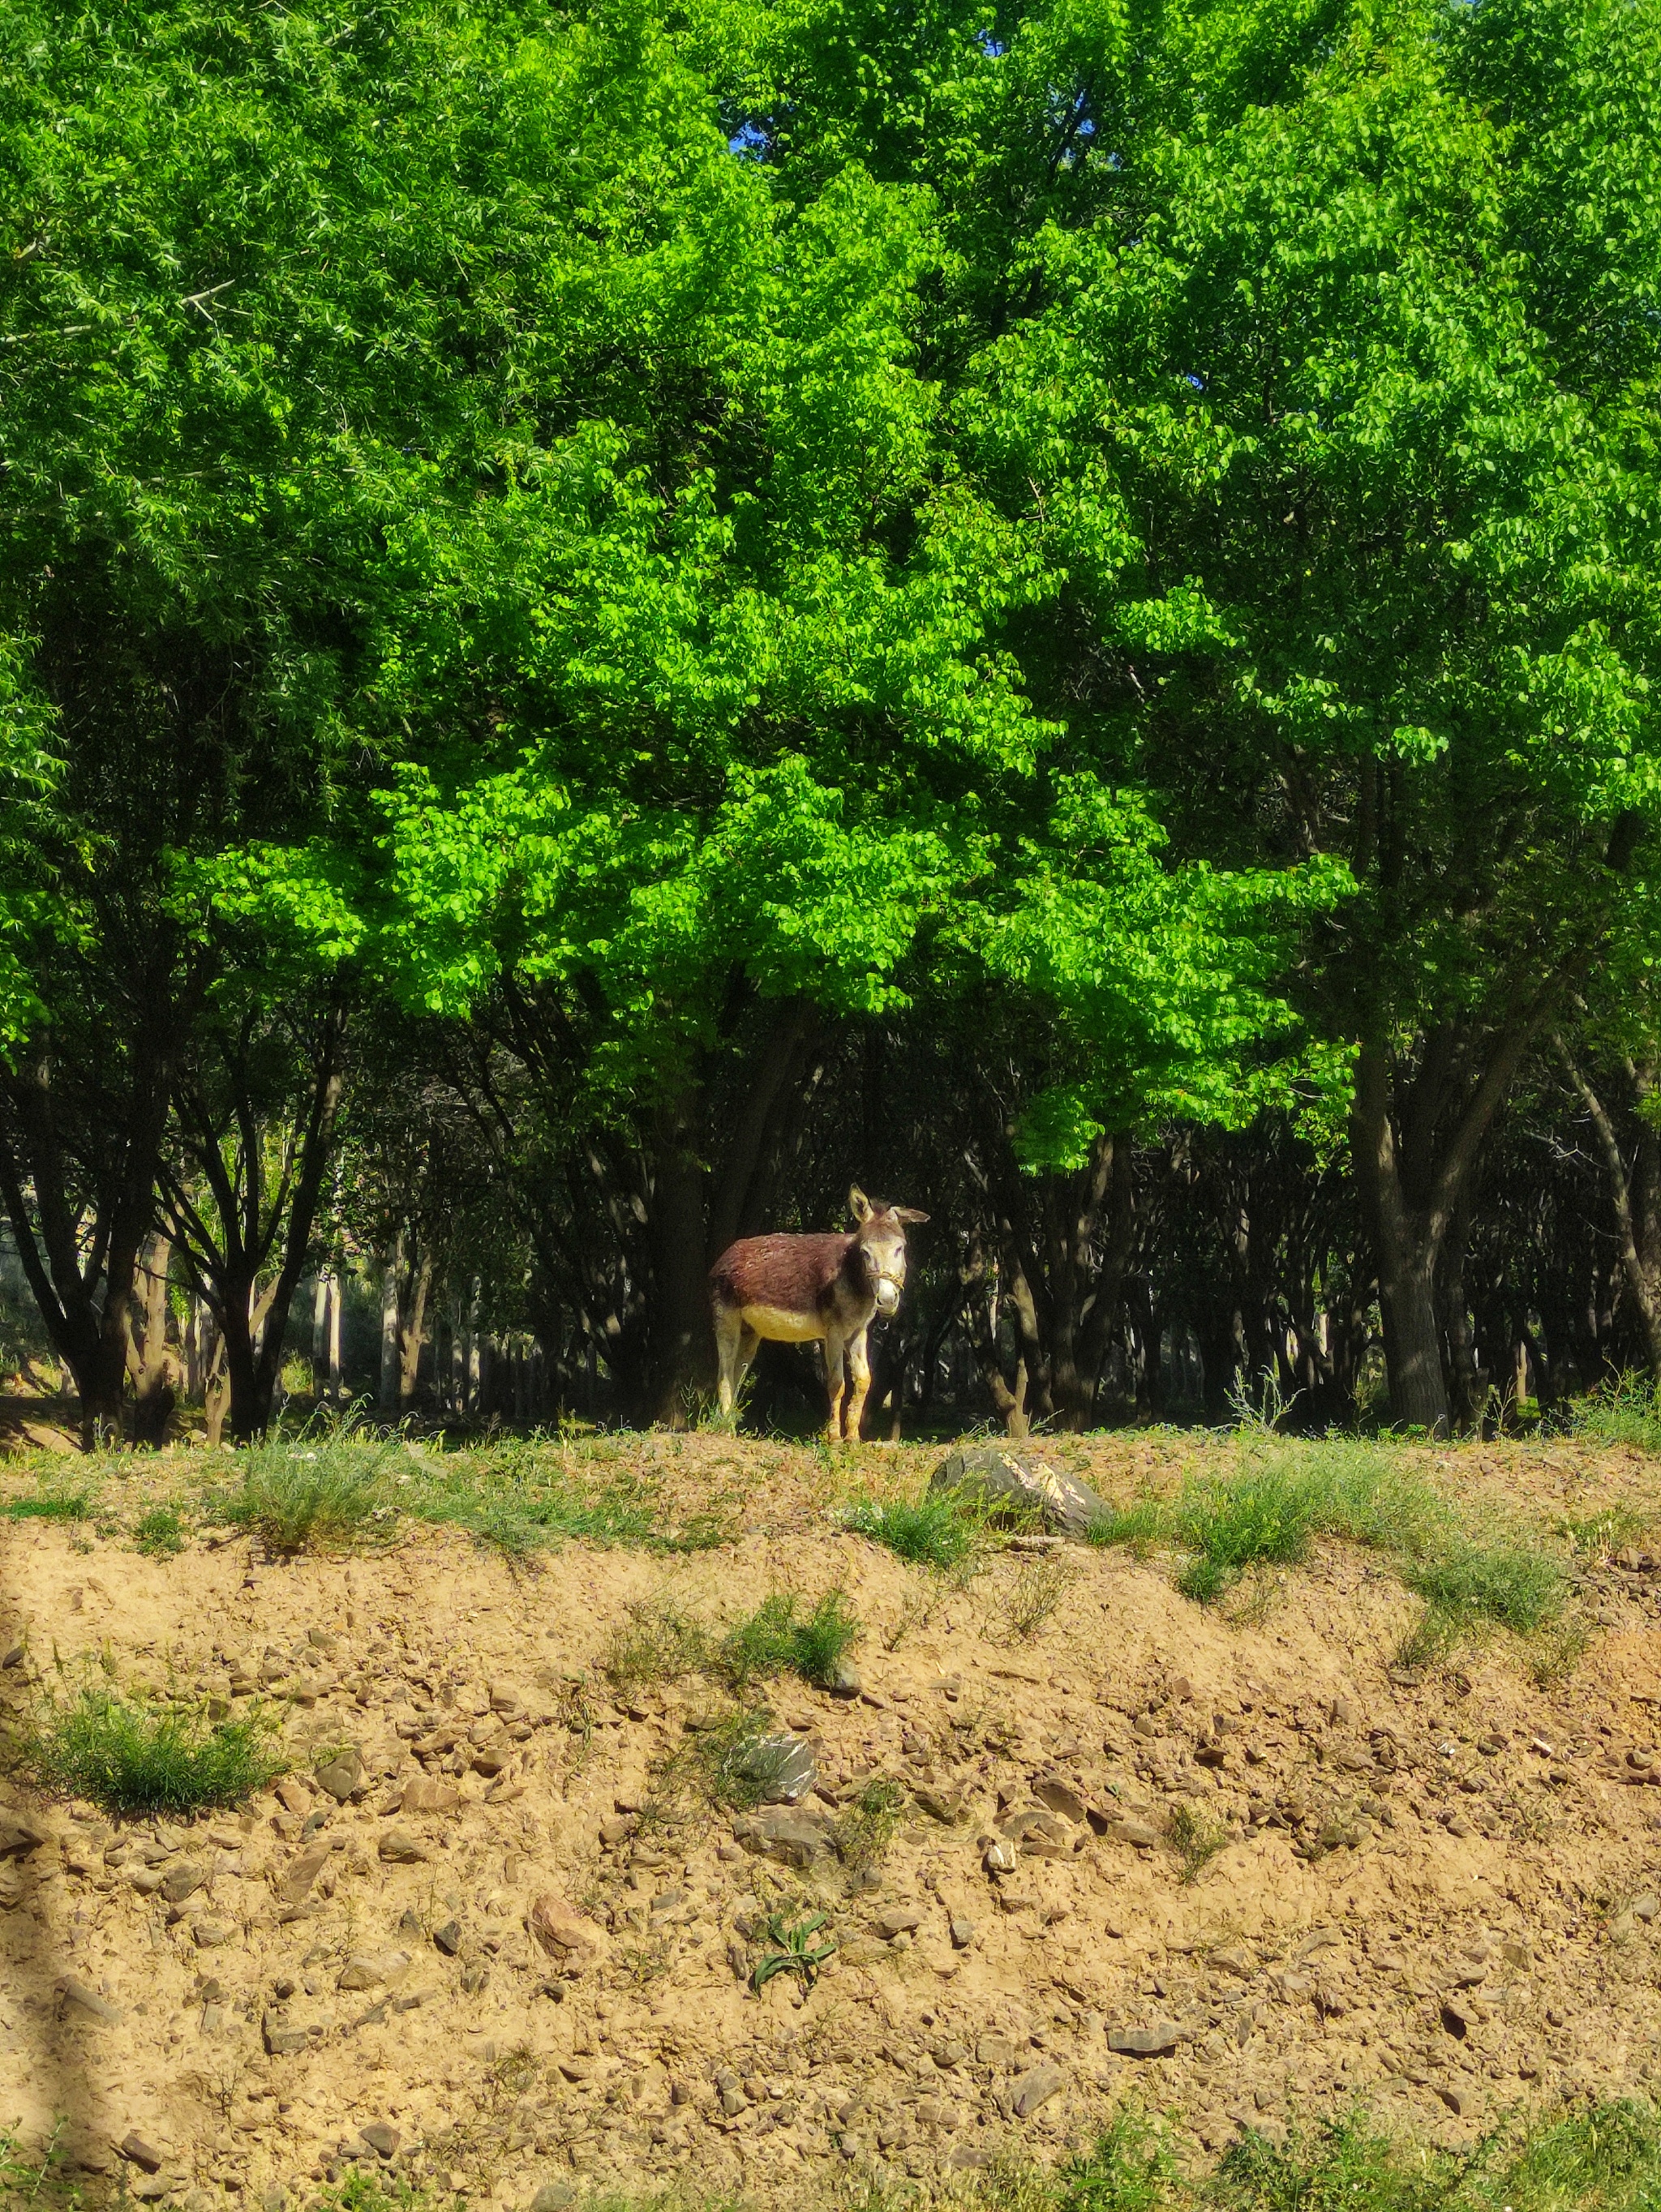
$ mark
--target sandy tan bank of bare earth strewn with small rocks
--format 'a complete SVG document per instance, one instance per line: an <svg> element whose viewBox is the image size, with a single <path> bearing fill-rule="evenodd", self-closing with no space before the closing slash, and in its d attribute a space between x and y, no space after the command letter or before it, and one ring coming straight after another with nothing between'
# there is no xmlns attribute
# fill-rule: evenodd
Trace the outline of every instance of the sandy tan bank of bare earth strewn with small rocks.
<svg viewBox="0 0 1661 2212"><path fill-rule="evenodd" d="M1070 1458L1124 1495L1183 1453ZM1513 1506L1522 1467L1542 1515L1648 1482L1544 1449L1440 1467ZM1415 1606L1362 1553L1230 1613L1082 1546L949 1586L834 1524L823 1458L728 1442L675 1473L737 1480L748 1526L537 1566L442 1531L268 1564L0 1528L13 1719L102 1655L281 1701L294 1759L181 1827L0 1794L0 2128L58 2132L93 2197L274 2205L361 2163L551 2212L599 2181L798 2205L869 2168L962 2179L1126 2097L1216 2150L1334 2101L1462 2141L1648 2095L1650 1553L1601 1568L1592 1644L1542 1688L1504 1641L1393 1668ZM630 1606L829 1586L867 1628L858 1694L772 1688L816 1787L723 1816L686 1781L717 1688L617 1694L610 1639ZM887 1843L871 1778L905 1801ZM814 1913L816 1986L756 1995Z"/></svg>

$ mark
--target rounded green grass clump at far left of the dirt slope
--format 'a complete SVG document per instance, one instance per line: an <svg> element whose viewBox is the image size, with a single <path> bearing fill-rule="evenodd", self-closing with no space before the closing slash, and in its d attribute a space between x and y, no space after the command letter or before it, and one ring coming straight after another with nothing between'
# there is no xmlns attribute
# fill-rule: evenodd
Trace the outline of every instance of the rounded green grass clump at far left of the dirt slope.
<svg viewBox="0 0 1661 2212"><path fill-rule="evenodd" d="M20 1763L44 1787L122 1818L241 1805L288 1767L263 1712L208 1723L192 1708L102 1688L46 1699Z"/></svg>

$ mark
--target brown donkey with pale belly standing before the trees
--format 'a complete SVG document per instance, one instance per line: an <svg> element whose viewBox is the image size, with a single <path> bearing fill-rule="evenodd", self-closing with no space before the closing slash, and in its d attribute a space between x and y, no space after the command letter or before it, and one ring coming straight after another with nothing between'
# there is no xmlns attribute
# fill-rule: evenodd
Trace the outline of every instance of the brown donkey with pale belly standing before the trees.
<svg viewBox="0 0 1661 2212"><path fill-rule="evenodd" d="M829 1389L827 1436L832 1442L858 1438L871 1387L865 1332L874 1314L898 1312L905 1225L929 1217L916 1206L871 1206L858 1183L847 1203L858 1223L852 1237L741 1237L710 1267L723 1413L739 1402L739 1385L763 1336L785 1345L821 1340Z"/></svg>

